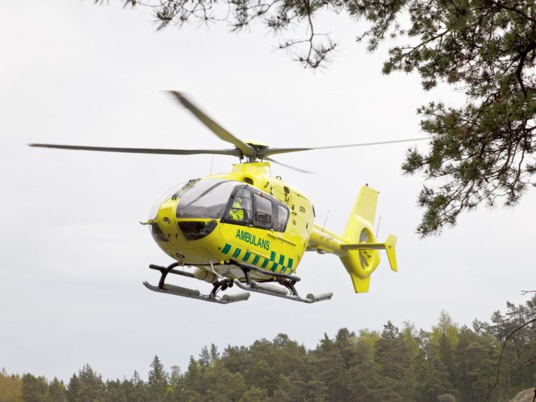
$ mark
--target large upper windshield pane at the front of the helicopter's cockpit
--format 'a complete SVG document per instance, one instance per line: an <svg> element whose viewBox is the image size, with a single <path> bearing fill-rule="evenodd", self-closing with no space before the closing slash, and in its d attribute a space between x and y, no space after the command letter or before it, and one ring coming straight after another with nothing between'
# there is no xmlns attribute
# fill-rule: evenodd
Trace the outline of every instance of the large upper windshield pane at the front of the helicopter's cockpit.
<svg viewBox="0 0 536 402"><path fill-rule="evenodd" d="M204 179L183 188L177 204L177 218L219 219L237 181Z"/></svg>

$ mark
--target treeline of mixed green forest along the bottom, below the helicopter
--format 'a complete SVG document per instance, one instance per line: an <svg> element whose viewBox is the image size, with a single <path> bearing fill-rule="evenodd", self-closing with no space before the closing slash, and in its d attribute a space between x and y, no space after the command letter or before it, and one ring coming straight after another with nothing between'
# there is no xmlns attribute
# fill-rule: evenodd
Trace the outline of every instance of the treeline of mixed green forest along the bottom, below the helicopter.
<svg viewBox="0 0 536 402"><path fill-rule="evenodd" d="M391 322L382 332L343 328L314 350L284 334L223 352L211 345L184 373L154 357L147 381L136 371L105 381L87 365L67 384L3 370L0 402L507 401L535 387L535 318L536 296L471 328L442 312L429 332Z"/></svg>

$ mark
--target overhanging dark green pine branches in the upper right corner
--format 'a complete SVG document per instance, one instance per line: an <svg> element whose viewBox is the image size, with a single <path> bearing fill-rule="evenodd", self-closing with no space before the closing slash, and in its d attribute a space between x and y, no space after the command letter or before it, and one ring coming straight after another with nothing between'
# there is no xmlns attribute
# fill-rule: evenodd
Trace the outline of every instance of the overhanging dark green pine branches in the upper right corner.
<svg viewBox="0 0 536 402"><path fill-rule="evenodd" d="M94 0L102 3L104 0ZM416 72L422 87L438 82L466 94L461 107L440 101L417 110L431 135L426 151L410 149L406 174L433 184L419 195L422 236L452 226L462 211L502 200L514 205L536 184L536 4L533 0L122 0L154 10L159 29L176 22L227 22L239 31L255 22L276 34L296 24L303 37L280 42L316 68L336 47L315 29L316 17L345 14L366 20L357 39L376 50L392 45L383 73ZM394 43L394 44L393 44Z"/></svg>

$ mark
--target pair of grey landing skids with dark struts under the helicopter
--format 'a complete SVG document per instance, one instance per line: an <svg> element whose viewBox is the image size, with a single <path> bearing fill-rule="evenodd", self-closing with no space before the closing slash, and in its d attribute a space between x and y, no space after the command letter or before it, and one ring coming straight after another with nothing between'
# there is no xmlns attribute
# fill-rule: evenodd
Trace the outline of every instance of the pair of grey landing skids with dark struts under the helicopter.
<svg viewBox="0 0 536 402"><path fill-rule="evenodd" d="M239 262L232 261L233 265L239 267L244 272L245 283L239 281L239 279L223 278L221 280L212 283L213 288L209 295L202 295L199 290L183 288L177 285L170 285L165 283L165 278L168 274L175 274L180 276L187 276L188 278L195 278L193 274L186 271L180 271L174 269L179 266L178 262L174 262L168 267L161 267L159 265L149 265L149 268L156 269L161 272L161 278L158 282L158 286L151 285L147 281L144 286L154 292L168 293L170 295L189 297L190 299L199 299L204 301L211 301L218 304L229 304L234 301L247 300L250 297L249 292L262 293L264 295L282 297L283 299L289 299L293 301L301 301L302 303L315 303L317 301L329 300L333 296L333 292L317 292L309 293L305 298L299 297L296 291L295 284L300 281L299 276L280 274L272 271L266 271L258 267L248 267L241 265ZM261 274L267 277L267 281L276 282L283 287L269 285L265 282L253 281L251 278L251 271L255 271L257 274ZM237 285L238 288L246 290L246 292L239 292L235 294L225 294L221 297L217 295L218 291L225 291L228 288L232 288L233 285Z"/></svg>

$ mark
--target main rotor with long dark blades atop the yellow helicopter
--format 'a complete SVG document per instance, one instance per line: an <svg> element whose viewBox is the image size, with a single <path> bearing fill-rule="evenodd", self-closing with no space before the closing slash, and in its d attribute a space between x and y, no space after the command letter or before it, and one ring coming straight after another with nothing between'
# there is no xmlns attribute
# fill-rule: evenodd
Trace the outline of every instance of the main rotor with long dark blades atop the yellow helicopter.
<svg viewBox="0 0 536 402"><path fill-rule="evenodd" d="M55 148L55 149L71 149L82 151L104 151L104 152L123 152L128 154L161 154L161 155L197 155L197 154L212 154L212 155L229 155L237 156L242 159L247 158L248 162L255 162L259 160L270 161L278 163L286 168L294 169L299 172L311 173L307 170L300 168L294 168L285 163L274 161L270 156L278 154L290 154L292 152L301 151L313 151L317 149L336 149L336 148L350 148L350 147L365 147L371 145L380 144L394 144L397 142L413 142L428 140L427 137L410 138L405 140L391 140L380 142L362 142L358 144L345 144L345 145L328 145L325 147L294 147L294 148L272 148L266 144L255 141L242 141L239 138L232 135L229 131L225 130L216 121L211 119L207 114L202 112L199 107L194 105L184 94L178 91L169 91L170 94L179 101L184 107L186 107L192 114L197 117L202 124L207 126L212 133L216 134L221 140L230 142L234 145L234 149L158 149L158 148L124 148L124 147L87 147L82 145L61 145L61 144L29 144L30 147L42 147L42 148Z"/></svg>

